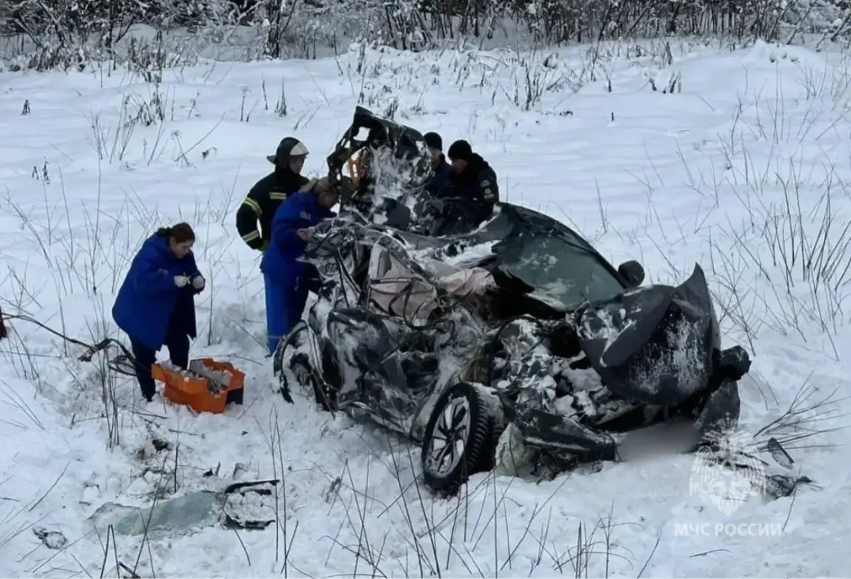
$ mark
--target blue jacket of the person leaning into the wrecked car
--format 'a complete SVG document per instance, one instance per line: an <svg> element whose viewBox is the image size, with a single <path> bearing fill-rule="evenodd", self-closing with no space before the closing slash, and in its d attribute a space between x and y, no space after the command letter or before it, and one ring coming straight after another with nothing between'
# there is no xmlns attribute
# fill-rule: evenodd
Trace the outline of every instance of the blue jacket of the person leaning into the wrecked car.
<svg viewBox="0 0 851 579"><path fill-rule="evenodd" d="M319 204L315 193L299 191L281 203L271 222L271 242L260 260L260 271L282 285L295 286L305 275L306 264L299 261L305 241L298 230L307 229L334 212Z"/></svg>

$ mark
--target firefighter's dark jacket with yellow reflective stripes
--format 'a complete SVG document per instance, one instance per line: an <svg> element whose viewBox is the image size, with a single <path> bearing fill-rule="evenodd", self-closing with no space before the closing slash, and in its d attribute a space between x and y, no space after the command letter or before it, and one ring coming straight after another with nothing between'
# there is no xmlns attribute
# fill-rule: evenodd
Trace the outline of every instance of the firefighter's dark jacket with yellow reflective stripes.
<svg viewBox="0 0 851 579"><path fill-rule="evenodd" d="M310 179L293 173L288 167L279 167L254 184L237 210L237 230L248 247L262 249L269 245L271 220L277 207L309 182Z"/></svg>

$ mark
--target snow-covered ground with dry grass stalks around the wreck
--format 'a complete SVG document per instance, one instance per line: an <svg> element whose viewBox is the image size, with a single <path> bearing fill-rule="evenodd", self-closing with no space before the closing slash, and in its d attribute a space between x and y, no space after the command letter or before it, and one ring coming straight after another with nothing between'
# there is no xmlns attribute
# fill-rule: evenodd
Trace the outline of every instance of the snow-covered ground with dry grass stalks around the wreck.
<svg viewBox="0 0 851 579"><path fill-rule="evenodd" d="M100 358L79 362L77 346L11 321L0 576L117 576L117 563L139 576L847 576L842 432L787 445L819 488L729 514L692 496L683 455L540 485L482 474L459 500L432 499L415 482L417 449L273 393L258 257L234 213L284 135L303 139L306 169L322 172L360 96L447 145L470 139L505 198L573 224L615 264L639 259L648 281L683 281L702 264L725 340L754 356L743 429L805 387L805 406L838 389L813 427L836 428L851 380L848 62L671 42L353 50L169 70L158 85L122 71L3 74L3 312L87 343L117 337L110 309L134 251L186 219L208 279L193 353L232 360L248 387L245 406L222 416L143 408ZM283 477L277 530L117 535L105 548L86 520L105 502L220 487L237 463L243 480ZM219 477L203 477L211 468ZM33 527L67 542L51 549Z"/></svg>

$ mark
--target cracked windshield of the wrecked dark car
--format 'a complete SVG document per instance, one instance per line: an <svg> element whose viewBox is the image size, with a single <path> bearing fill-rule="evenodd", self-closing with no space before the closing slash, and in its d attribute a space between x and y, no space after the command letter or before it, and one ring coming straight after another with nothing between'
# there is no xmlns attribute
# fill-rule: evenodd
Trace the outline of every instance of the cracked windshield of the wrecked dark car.
<svg viewBox="0 0 851 579"><path fill-rule="evenodd" d="M505 273L533 287L543 301L571 307L585 300L613 298L624 287L580 242L559 237L517 236L494 247Z"/></svg>

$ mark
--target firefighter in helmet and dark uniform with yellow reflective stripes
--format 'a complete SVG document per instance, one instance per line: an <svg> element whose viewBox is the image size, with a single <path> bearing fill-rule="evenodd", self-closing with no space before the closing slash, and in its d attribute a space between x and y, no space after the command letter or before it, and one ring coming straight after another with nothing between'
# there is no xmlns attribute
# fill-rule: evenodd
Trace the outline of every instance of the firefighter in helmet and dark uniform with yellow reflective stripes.
<svg viewBox="0 0 851 579"><path fill-rule="evenodd" d="M307 153L304 143L287 137L277 145L274 155L266 157L275 165L275 170L254 184L237 210L237 230L248 247L261 252L269 247L271 220L277 207L310 181L301 175ZM257 229L258 222L260 230Z"/></svg>

